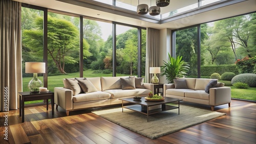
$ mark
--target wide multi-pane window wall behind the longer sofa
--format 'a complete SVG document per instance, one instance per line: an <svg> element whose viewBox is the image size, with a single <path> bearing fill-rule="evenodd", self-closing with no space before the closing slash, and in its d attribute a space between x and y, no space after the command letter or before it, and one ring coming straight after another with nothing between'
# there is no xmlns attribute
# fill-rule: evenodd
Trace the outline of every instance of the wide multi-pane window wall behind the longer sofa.
<svg viewBox="0 0 256 144"><path fill-rule="evenodd" d="M32 79L32 74L25 73L25 62L32 61L47 63L47 73L44 78L43 74L39 74L39 79L45 80L44 85L51 91L54 91L54 87L63 87L65 78L144 76L145 28L47 11L36 6L25 6L22 10L23 91L29 91L27 84ZM116 29L112 29L113 26ZM115 39L113 31L117 34ZM138 48L138 45L141 47ZM115 56L113 50L116 50ZM113 69L117 70L113 72ZM44 101L32 103L41 102Z"/></svg>

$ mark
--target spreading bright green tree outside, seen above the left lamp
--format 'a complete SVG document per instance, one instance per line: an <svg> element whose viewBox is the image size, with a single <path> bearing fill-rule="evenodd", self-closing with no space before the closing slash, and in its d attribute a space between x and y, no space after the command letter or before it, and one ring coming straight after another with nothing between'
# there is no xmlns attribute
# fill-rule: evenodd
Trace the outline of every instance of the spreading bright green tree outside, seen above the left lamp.
<svg viewBox="0 0 256 144"><path fill-rule="evenodd" d="M33 47L35 54L42 53L43 44L43 19L35 19L36 30L24 31L25 46ZM83 40L83 56L89 57L89 44ZM60 73L66 74L65 63L77 63L79 61L79 32L69 21L48 16L48 54L56 64Z"/></svg>

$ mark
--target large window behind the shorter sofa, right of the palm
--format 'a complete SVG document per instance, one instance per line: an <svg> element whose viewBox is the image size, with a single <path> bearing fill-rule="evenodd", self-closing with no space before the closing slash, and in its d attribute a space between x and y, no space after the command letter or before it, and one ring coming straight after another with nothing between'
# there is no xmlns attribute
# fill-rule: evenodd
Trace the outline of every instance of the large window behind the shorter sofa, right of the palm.
<svg viewBox="0 0 256 144"><path fill-rule="evenodd" d="M234 89L231 79L221 76L226 72L230 76L255 73L255 19L256 13L250 13L174 30L173 43L176 44L173 56L181 55L189 63L187 77L218 78L225 86ZM248 92L253 90L248 88ZM231 90L231 98L256 100L255 92L242 93L237 89Z"/></svg>

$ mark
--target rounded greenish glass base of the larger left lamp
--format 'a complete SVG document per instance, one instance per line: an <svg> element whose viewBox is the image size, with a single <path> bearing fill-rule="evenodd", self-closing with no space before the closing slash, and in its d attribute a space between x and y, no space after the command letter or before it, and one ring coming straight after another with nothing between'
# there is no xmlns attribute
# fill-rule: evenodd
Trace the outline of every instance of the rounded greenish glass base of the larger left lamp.
<svg viewBox="0 0 256 144"><path fill-rule="evenodd" d="M30 93L39 93L40 87L42 87L42 82L37 78L37 73L34 73L33 79L30 80L30 82L28 84Z"/></svg>

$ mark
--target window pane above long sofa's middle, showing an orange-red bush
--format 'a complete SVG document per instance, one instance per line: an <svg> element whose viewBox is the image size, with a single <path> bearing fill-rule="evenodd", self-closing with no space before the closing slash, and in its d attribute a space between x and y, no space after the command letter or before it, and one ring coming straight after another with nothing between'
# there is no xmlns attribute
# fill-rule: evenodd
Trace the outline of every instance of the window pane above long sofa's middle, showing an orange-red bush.
<svg viewBox="0 0 256 144"><path fill-rule="evenodd" d="M112 23L83 18L83 76L113 75Z"/></svg>

